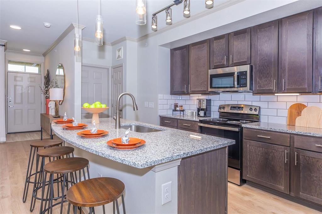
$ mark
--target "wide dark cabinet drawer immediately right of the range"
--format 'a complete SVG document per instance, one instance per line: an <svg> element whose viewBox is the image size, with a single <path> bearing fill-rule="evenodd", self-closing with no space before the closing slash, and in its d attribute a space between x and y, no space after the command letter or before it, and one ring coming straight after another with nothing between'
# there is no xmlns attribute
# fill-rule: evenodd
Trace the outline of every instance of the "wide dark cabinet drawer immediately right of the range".
<svg viewBox="0 0 322 214"><path fill-rule="evenodd" d="M289 146L289 134L254 129L244 129L243 134L245 139Z"/></svg>

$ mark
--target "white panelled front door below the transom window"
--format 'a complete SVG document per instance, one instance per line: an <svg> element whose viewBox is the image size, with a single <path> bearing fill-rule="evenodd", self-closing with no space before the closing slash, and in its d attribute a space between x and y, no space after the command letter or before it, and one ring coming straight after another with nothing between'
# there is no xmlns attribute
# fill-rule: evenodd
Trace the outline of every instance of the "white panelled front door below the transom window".
<svg viewBox="0 0 322 214"><path fill-rule="evenodd" d="M8 133L40 130L41 75L8 72Z"/></svg>

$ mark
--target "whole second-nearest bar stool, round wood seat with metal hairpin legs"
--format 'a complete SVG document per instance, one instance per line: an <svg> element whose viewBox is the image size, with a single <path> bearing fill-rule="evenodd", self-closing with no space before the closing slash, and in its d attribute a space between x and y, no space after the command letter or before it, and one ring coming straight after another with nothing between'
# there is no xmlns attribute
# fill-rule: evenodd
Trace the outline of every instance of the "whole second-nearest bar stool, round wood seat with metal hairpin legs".
<svg viewBox="0 0 322 214"><path fill-rule="evenodd" d="M46 183L46 177L47 174L50 174L49 177L49 183L48 183L48 189L47 189L47 194L46 198L41 201L40 205L40 213L45 213L46 211L49 211L52 213L52 207L61 204L61 211L60 213L62 214L62 208L63 208L63 203L67 202L67 200L64 200L64 190L65 190L65 184L66 183L71 183L71 186L73 184L76 184L81 181L81 171L83 172L83 179L86 179L86 174L85 174L85 168L87 169L87 178L90 178L90 173L88 169L89 161L85 158L82 157L68 157L68 158L62 158L62 159L56 159L50 163L47 163L43 167L43 186L42 186L42 199L44 199L44 192L45 192L45 183ZM79 171L79 180L77 179L77 171ZM70 180L66 179L66 176L70 174ZM63 182L62 182L62 196L61 196L61 201L53 204L53 184L54 184L54 179L53 175L54 174L62 174L63 177ZM74 177L75 175L75 177ZM58 181L56 181L58 182ZM43 201L45 201L44 204L44 209L43 209ZM48 201L48 207L47 206L47 201Z"/></svg>

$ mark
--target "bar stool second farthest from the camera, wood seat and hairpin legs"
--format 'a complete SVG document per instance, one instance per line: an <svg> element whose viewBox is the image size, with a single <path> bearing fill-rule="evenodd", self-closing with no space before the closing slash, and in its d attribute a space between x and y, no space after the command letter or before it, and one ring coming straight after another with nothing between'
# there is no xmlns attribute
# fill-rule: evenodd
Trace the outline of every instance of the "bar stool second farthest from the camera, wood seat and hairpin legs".
<svg viewBox="0 0 322 214"><path fill-rule="evenodd" d="M37 192L39 189L42 188L40 184L43 182L43 166L45 165L45 159L48 158L49 162L52 160L54 161L56 159L61 159L64 158L64 156L70 157L72 155L74 157L74 148L73 147L52 147L52 148L46 148L43 150L40 150L37 152L37 158L36 158L36 171L38 171L38 165L39 165L39 159L42 157L41 164L40 164L40 170L39 170L39 175L38 175L38 180L37 176L35 176L35 180L33 183L33 195L31 198L31 203L30 203L30 211L32 212L34 207L35 207L35 202L37 200L43 200L43 198L37 197ZM51 159L52 158L52 159ZM62 178L62 175L58 176L57 174L57 179L54 181L59 181L59 179ZM62 179L61 179L62 181ZM61 182L62 183L62 182ZM45 184L46 185L46 184ZM61 184L62 186L62 184ZM56 200L59 198L59 183L57 182L57 197Z"/></svg>

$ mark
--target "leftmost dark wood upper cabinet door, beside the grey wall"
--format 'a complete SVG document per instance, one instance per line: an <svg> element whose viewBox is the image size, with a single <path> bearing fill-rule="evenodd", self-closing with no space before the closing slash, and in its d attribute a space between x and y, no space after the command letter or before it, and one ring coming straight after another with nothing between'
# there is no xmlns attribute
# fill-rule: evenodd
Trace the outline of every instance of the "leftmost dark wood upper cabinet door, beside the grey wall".
<svg viewBox="0 0 322 214"><path fill-rule="evenodd" d="M187 94L188 45L171 49L171 94Z"/></svg>

